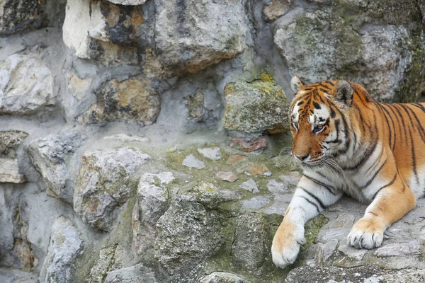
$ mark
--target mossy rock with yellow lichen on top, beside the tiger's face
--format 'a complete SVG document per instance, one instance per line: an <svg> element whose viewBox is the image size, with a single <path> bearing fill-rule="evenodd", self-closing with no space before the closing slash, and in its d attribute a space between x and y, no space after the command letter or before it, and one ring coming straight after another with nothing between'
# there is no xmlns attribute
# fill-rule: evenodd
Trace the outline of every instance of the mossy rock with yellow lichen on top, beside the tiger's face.
<svg viewBox="0 0 425 283"><path fill-rule="evenodd" d="M270 75L247 83L237 81L225 87L226 112L222 119L225 129L272 134L289 131L290 103L280 86Z"/></svg>

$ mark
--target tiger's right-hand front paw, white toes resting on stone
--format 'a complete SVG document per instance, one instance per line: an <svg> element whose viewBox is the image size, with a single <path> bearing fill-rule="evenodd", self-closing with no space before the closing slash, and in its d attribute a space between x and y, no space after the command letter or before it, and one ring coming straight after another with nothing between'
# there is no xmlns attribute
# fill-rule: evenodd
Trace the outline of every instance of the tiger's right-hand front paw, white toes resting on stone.
<svg viewBox="0 0 425 283"><path fill-rule="evenodd" d="M354 248L378 248L384 239L385 227L373 219L359 219L347 237L347 242Z"/></svg>

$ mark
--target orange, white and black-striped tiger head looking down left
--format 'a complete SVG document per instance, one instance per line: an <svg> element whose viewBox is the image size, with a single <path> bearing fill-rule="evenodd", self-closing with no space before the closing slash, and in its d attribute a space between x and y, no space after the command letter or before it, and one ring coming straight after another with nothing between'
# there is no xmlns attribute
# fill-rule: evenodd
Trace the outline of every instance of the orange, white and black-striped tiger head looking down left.
<svg viewBox="0 0 425 283"><path fill-rule="evenodd" d="M324 158L348 150L348 129L353 85L348 81L321 81L311 85L291 79L296 93L290 107L292 155L302 163L319 165Z"/></svg>

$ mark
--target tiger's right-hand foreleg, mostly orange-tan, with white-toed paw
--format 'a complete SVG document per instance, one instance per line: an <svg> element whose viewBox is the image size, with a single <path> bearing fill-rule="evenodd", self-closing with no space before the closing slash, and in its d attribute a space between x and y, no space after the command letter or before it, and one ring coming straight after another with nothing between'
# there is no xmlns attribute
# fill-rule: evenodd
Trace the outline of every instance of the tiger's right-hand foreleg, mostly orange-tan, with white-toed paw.
<svg viewBox="0 0 425 283"><path fill-rule="evenodd" d="M378 248L388 226L413 209L416 199L398 173L382 187L364 216L354 224L347 240L354 248Z"/></svg>

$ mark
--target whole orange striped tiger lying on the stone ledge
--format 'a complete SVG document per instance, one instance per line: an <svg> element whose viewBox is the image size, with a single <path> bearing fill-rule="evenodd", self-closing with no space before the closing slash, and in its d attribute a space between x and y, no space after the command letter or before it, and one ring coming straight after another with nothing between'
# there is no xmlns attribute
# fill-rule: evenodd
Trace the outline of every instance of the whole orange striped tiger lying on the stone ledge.
<svg viewBox="0 0 425 283"><path fill-rule="evenodd" d="M277 267L293 264L304 225L345 193L367 202L347 236L373 249L425 194L425 103L379 103L351 81L290 81L291 154L303 174L271 246Z"/></svg>

